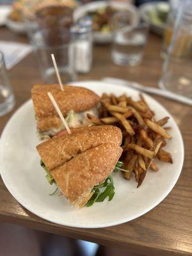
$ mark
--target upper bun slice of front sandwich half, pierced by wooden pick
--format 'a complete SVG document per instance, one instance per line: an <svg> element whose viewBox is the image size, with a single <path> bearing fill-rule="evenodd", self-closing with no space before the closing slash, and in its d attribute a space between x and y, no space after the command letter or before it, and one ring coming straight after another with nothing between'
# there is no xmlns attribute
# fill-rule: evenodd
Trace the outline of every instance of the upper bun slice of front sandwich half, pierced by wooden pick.
<svg viewBox="0 0 192 256"><path fill-rule="evenodd" d="M72 134L55 136L36 148L45 166L51 171L72 157L102 143L121 145L122 132L113 125L77 128Z"/></svg>

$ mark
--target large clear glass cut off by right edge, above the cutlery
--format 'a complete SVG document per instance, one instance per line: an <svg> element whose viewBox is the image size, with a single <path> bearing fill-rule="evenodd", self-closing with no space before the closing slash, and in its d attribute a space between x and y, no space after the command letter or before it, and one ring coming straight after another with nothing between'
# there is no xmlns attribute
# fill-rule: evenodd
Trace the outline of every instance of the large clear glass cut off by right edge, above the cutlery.
<svg viewBox="0 0 192 256"><path fill-rule="evenodd" d="M164 60L160 88L192 98L192 3L180 2Z"/></svg>

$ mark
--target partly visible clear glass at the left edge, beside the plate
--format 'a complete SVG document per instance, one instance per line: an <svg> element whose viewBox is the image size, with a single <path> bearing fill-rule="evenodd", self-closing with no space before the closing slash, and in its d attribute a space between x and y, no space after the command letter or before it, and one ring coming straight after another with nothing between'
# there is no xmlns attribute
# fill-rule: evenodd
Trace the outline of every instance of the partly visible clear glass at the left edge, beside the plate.
<svg viewBox="0 0 192 256"><path fill-rule="evenodd" d="M15 106L15 97L4 64L3 52L0 51L0 116L5 115Z"/></svg>

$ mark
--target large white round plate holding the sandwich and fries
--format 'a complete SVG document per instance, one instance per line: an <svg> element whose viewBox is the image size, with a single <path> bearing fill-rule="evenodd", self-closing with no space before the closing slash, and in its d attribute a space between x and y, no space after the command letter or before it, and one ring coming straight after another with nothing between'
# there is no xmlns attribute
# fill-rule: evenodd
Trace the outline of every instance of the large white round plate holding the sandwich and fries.
<svg viewBox="0 0 192 256"><path fill-rule="evenodd" d="M127 93L138 98L136 90L124 86L88 81L74 83L84 86L101 95L104 92L121 95ZM144 94L145 95L145 94ZM157 118L170 116L170 134L166 149L172 153L173 164L158 163L159 172L147 172L147 177L140 188L136 188L134 179L125 180L121 173L113 173L115 196L111 202L105 200L92 207L75 209L65 196L49 196L54 187L45 179L45 172L40 166L40 157L36 145L36 124L31 100L21 106L6 125L0 143L0 168L4 184L26 209L34 214L61 225L81 228L109 227L133 220L150 211L170 193L179 178L184 146L179 128L172 116L156 100L148 95L145 99Z"/></svg>

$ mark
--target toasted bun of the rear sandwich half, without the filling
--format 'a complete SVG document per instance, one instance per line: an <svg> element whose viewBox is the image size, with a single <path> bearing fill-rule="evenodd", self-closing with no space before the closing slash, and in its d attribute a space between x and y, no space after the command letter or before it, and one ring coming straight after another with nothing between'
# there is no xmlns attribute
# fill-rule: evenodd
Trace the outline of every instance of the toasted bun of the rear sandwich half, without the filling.
<svg viewBox="0 0 192 256"><path fill-rule="evenodd" d="M58 84L36 84L31 90L31 97L35 108L37 128L40 131L58 128L61 125L61 120L47 92L52 93L64 116L70 110L79 113L92 109L100 101L96 93L83 87L65 85L62 92Z"/></svg>

